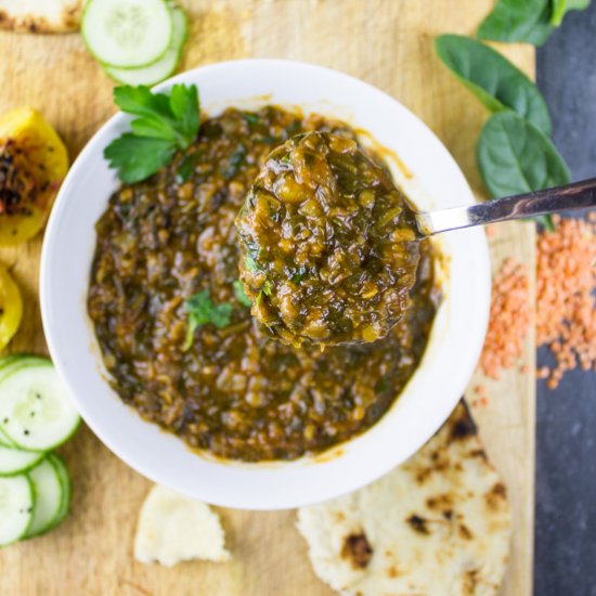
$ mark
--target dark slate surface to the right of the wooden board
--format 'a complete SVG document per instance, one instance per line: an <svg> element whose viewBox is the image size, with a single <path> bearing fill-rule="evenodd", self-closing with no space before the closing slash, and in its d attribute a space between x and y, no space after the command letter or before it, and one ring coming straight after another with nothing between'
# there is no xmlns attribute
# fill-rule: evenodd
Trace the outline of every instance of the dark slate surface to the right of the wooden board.
<svg viewBox="0 0 596 596"><path fill-rule="evenodd" d="M573 179L596 177L596 2L539 49L537 82ZM537 393L534 594L596 596L596 374Z"/></svg>

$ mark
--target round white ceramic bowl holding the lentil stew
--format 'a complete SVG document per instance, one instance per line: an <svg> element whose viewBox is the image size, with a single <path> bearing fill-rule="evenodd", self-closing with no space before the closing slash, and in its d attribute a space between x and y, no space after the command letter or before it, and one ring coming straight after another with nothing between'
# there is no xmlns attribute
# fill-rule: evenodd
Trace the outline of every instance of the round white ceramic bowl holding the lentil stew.
<svg viewBox="0 0 596 596"><path fill-rule="evenodd" d="M196 83L202 107L265 103L301 106L347 120L393 150L414 174L405 190L419 207L472 203L457 165L430 130L396 100L340 73L296 62L246 60L212 64L161 83ZM41 311L52 359L86 423L143 476L205 502L278 509L353 491L418 450L446 419L476 365L488 321L490 272L481 230L441 237L449 275L423 362L393 406L362 436L315 458L238 464L192 453L182 441L143 422L105 380L86 300L95 246L94 223L117 186L102 152L127 129L108 120L73 165L50 218L41 258Z"/></svg>

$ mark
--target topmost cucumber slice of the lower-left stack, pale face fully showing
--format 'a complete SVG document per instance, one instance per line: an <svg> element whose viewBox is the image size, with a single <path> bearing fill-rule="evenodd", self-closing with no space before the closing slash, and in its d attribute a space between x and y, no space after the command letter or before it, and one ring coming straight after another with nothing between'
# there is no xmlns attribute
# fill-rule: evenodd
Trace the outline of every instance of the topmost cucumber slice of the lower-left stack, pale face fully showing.
<svg viewBox="0 0 596 596"><path fill-rule="evenodd" d="M80 417L49 361L0 376L0 428L18 448L49 451L66 441Z"/></svg>

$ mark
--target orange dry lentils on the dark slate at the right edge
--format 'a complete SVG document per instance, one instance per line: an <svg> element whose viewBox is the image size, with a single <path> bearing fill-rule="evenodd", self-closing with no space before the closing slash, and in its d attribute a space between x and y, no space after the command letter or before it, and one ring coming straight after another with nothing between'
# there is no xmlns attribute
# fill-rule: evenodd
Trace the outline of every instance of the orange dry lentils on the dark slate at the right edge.
<svg viewBox="0 0 596 596"><path fill-rule="evenodd" d="M589 220L554 218L536 250L536 344L548 346L557 363L543 367L554 389L566 371L596 370L596 212Z"/></svg>

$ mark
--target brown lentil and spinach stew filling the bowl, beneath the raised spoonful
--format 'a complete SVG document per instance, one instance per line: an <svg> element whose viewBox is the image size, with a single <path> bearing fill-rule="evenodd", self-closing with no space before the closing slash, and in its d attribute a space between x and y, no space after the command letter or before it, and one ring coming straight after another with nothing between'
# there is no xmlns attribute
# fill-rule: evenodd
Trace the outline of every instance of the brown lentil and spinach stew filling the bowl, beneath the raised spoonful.
<svg viewBox="0 0 596 596"><path fill-rule="evenodd" d="M167 167L124 184L96 224L88 310L115 391L220 457L294 459L366 430L428 340L439 299L428 241L410 307L375 342L295 348L250 315L234 220L270 152L312 130L355 140L318 116L228 109Z"/></svg>

